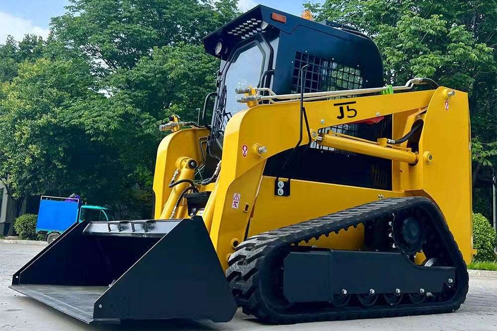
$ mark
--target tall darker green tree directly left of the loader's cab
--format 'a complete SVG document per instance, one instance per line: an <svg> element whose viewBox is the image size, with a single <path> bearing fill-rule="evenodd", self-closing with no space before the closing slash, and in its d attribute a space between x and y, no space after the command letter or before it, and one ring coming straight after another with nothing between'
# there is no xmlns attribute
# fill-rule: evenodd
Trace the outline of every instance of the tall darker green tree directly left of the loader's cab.
<svg viewBox="0 0 497 331"><path fill-rule="evenodd" d="M128 207L138 204L121 206L122 201L152 189L163 137L158 124L173 113L195 119L195 109L215 89L219 62L205 54L201 39L237 15L236 3L72 0L66 14L52 19L47 54L89 64L95 91L107 96L105 102L73 102L71 121L115 151L119 172L111 178L119 187L105 201L123 214L133 214ZM139 191L129 194L130 188Z"/></svg>

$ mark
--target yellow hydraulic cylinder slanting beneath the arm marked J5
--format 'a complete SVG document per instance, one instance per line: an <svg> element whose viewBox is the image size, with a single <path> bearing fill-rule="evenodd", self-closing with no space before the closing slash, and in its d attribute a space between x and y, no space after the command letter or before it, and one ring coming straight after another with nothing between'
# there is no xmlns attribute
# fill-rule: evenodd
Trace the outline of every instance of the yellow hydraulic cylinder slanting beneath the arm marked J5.
<svg viewBox="0 0 497 331"><path fill-rule="evenodd" d="M417 154L414 152L381 146L372 141L365 142L333 134L320 134L317 140L320 145L358 154L376 156L409 164L415 164L417 162Z"/></svg>

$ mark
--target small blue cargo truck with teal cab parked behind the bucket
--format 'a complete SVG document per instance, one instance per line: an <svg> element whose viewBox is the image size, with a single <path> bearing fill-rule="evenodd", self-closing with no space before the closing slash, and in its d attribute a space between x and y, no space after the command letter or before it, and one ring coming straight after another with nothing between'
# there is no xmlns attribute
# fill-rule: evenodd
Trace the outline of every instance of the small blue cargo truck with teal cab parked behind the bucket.
<svg viewBox="0 0 497 331"><path fill-rule="evenodd" d="M50 244L75 222L86 219L109 221L113 217L109 208L82 205L80 199L42 196L36 232L45 235Z"/></svg>

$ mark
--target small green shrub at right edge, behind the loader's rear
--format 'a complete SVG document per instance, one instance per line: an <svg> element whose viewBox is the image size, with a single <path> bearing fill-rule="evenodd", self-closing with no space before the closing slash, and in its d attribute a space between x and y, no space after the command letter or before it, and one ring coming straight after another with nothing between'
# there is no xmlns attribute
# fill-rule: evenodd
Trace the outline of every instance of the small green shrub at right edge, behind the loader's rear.
<svg viewBox="0 0 497 331"><path fill-rule="evenodd" d="M473 214L473 247L477 249L476 261L494 261L496 231L482 214Z"/></svg>

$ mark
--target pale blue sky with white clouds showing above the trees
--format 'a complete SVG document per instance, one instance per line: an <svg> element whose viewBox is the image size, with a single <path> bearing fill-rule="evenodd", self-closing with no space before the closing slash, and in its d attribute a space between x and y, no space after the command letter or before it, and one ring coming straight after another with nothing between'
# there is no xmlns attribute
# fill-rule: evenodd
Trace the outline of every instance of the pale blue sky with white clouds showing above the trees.
<svg viewBox="0 0 497 331"><path fill-rule="evenodd" d="M303 2L304 0L239 0L239 7L248 10L260 3L300 15ZM0 44L5 41L7 35L18 41L27 33L46 38L50 17L63 14L67 4L69 0L0 0Z"/></svg>

